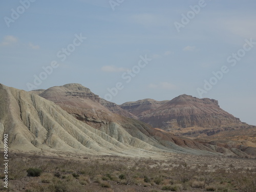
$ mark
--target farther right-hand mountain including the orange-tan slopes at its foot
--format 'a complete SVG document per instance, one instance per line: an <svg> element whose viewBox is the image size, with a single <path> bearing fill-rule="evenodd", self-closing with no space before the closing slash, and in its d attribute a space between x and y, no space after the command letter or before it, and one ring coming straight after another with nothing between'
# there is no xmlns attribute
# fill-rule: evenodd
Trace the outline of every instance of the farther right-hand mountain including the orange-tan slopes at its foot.
<svg viewBox="0 0 256 192"><path fill-rule="evenodd" d="M225 112L215 99L180 95L162 104L152 99L144 99L126 102L120 106L137 115L139 120L159 127L157 130L196 138L215 151L222 151L223 148L219 147L225 147L236 154L240 153L237 150L250 155L256 154L256 126L243 123ZM211 144L215 146L210 146Z"/></svg>

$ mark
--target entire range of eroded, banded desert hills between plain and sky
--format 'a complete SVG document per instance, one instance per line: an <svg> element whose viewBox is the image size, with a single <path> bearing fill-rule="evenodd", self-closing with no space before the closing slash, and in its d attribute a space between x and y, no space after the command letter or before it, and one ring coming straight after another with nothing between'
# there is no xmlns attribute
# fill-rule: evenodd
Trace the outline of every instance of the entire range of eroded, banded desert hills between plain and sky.
<svg viewBox="0 0 256 192"><path fill-rule="evenodd" d="M244 139L223 137L243 129L250 133ZM220 133L222 140L213 137ZM225 112L214 99L180 95L117 105L78 83L31 92L0 84L0 134L8 134L9 146L21 151L256 155L255 126Z"/></svg>

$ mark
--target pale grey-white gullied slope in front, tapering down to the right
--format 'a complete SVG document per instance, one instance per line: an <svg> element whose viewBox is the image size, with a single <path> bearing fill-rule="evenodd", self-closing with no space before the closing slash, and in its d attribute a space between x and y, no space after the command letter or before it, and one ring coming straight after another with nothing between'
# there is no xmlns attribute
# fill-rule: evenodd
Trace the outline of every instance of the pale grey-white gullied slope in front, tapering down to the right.
<svg viewBox="0 0 256 192"><path fill-rule="evenodd" d="M9 146L15 150L134 157L162 153L219 154L200 143L156 131L133 119L127 120L125 128L118 122L109 122L105 127L108 128L97 130L52 101L0 84L0 135L8 134ZM3 141L0 146L3 148Z"/></svg>

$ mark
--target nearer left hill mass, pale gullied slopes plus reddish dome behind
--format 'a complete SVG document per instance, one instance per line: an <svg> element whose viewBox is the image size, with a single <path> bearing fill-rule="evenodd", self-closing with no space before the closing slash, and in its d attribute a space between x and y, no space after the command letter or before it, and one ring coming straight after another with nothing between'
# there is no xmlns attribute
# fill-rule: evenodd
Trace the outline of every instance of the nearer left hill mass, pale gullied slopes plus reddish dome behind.
<svg viewBox="0 0 256 192"><path fill-rule="evenodd" d="M247 151L243 147L219 146L219 142L174 136L112 113L123 111L120 109L81 84L36 92L0 84L0 133L8 134L9 147L13 150L131 157L164 156L165 153L245 157L246 152L254 153L251 143Z"/></svg>

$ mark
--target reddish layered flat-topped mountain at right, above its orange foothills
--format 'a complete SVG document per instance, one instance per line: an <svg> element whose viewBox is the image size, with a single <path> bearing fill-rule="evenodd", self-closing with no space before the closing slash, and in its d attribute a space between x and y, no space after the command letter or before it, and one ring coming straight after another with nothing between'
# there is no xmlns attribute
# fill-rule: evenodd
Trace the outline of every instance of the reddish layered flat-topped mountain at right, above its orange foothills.
<svg viewBox="0 0 256 192"><path fill-rule="evenodd" d="M136 106L137 109L144 109L143 105L145 103L134 103L141 104L141 106ZM127 110L126 105L124 103L121 107ZM131 113L133 112L131 111ZM137 111L135 113L137 114ZM150 111L140 111L138 113L138 119L163 130L173 127L177 129L179 127L191 126L214 127L241 123L239 118L222 110L217 100L208 98L199 99L185 94L164 102L158 108L152 108Z"/></svg>

